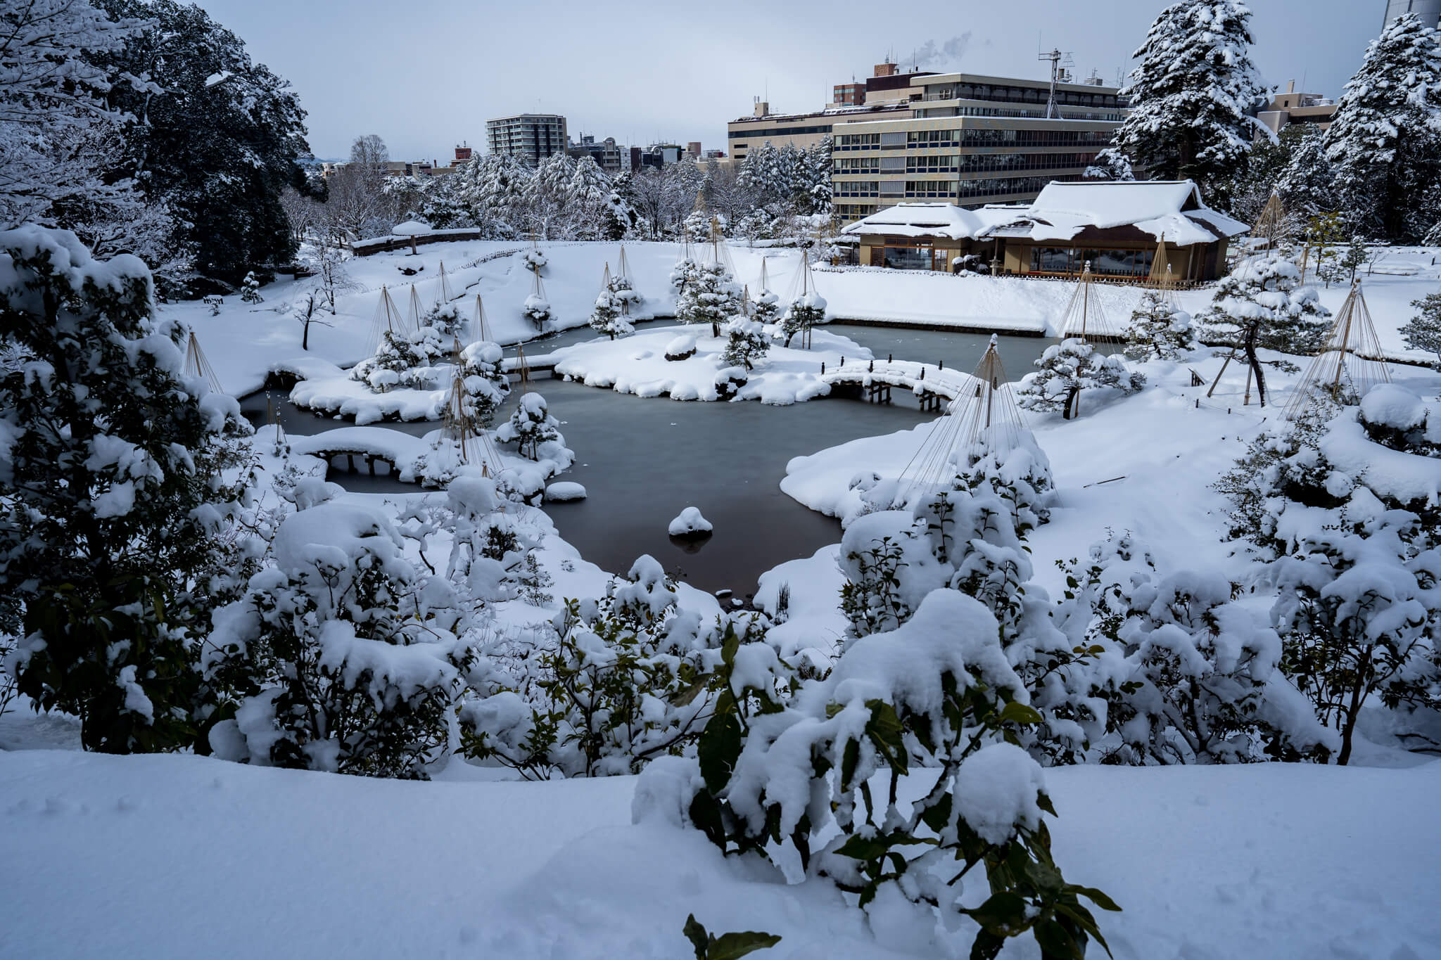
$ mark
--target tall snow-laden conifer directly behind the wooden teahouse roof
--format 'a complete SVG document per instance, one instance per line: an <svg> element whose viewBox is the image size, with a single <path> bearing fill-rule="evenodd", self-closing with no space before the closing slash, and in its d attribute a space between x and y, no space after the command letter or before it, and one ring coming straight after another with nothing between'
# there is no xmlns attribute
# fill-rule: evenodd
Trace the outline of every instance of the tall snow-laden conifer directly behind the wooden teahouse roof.
<svg viewBox="0 0 1441 960"><path fill-rule="evenodd" d="M1251 63L1249 22L1238 0L1163 10L1133 55L1141 63L1121 91L1131 112L1104 157L1121 154L1154 178L1189 178L1215 193L1265 130L1252 117L1268 96Z"/></svg>

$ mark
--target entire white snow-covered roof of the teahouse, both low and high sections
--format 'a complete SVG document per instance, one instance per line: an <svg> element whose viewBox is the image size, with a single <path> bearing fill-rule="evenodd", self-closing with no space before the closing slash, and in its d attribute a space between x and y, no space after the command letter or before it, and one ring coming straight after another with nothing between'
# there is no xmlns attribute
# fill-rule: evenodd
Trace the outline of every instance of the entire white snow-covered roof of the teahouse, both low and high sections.
<svg viewBox="0 0 1441 960"><path fill-rule="evenodd" d="M1071 240L1087 227L1131 226L1177 246L1212 243L1251 227L1202 203L1190 180L1052 181L1030 206L963 210L953 203L898 203L856 220L843 233L944 236L953 240L1013 236Z"/></svg>

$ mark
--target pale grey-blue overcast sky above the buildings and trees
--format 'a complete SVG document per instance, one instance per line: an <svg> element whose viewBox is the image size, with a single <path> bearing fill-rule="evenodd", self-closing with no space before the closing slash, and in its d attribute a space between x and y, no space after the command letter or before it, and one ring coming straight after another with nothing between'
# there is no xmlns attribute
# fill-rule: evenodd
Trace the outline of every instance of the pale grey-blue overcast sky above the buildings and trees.
<svg viewBox="0 0 1441 960"><path fill-rule="evenodd" d="M1048 76L1059 47L1078 76L1114 82L1164 0L725 0L722 3L488 3L476 0L199 0L251 56L287 78L308 111L317 157L379 134L392 158L445 158L483 145L486 118L563 114L572 138L699 140L725 148L752 98L817 109L834 83L865 79L888 53L922 69ZM1251 0L1252 58L1267 83L1303 79L1336 96L1385 0Z"/></svg>

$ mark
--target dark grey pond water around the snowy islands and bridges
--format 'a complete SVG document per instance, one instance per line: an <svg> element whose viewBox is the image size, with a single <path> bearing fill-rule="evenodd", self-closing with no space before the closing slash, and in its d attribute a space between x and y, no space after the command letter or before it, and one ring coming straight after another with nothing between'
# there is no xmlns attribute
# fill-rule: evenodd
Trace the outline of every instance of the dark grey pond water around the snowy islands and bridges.
<svg viewBox="0 0 1441 960"><path fill-rule="evenodd" d="M670 321L660 321L664 325ZM641 324L644 328L650 324ZM971 370L990 340L981 334L831 325L879 357L944 360ZM588 330L532 341L527 353L581 343ZM1013 379L1030 368L1050 341L1000 338ZM507 351L509 353L509 351ZM1019 371L1019 373L1017 373ZM576 461L561 479L586 488L588 498L548 502L545 511L561 535L604 570L625 573L635 557L651 554L677 579L703 590L755 590L757 579L787 560L814 554L840 540L840 524L801 507L781 492L785 463L862 436L904 430L929 419L906 391L889 406L823 399L788 407L761 403L680 403L641 399L563 380L537 380L550 413L562 423ZM308 435L347 426L290 406L285 391L269 391L287 430ZM519 390L514 393L519 396ZM497 415L509 416L514 400ZM255 422L267 416L265 393L242 400ZM422 435L435 423L386 423ZM383 466L379 468L383 471ZM857 465L857 471L860 465ZM330 479L356 492L416 492L383 474L331 471ZM686 507L697 507L715 525L706 540L673 540L666 527Z"/></svg>

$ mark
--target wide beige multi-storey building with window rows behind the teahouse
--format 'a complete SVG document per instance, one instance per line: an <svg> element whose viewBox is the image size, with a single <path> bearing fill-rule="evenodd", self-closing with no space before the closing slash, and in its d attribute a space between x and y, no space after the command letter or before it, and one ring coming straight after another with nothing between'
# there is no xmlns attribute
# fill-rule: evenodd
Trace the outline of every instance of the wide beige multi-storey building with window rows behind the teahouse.
<svg viewBox="0 0 1441 960"><path fill-rule="evenodd" d="M843 223L905 200L1030 201L1053 180L1079 180L1125 118L1118 91L1097 79L1058 82L1052 98L1049 81L916 75L904 104L905 117L833 127L831 193Z"/></svg>

